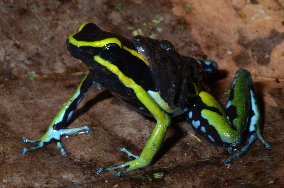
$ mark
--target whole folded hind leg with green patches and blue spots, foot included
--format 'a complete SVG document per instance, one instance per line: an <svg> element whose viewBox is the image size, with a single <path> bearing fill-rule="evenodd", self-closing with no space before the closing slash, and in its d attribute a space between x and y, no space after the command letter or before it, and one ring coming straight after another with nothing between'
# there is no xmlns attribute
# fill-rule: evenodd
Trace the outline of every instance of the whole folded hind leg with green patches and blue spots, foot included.
<svg viewBox="0 0 284 188"><path fill-rule="evenodd" d="M230 165L234 159L244 154L257 138L267 149L271 148L261 136L259 103L251 74L247 70L239 69L236 72L225 110L213 96L204 91L189 101L195 103L189 107L186 119L204 138L226 146L231 152L233 148L243 144L243 138L248 137L247 144L229 157L224 162L225 165Z"/></svg>

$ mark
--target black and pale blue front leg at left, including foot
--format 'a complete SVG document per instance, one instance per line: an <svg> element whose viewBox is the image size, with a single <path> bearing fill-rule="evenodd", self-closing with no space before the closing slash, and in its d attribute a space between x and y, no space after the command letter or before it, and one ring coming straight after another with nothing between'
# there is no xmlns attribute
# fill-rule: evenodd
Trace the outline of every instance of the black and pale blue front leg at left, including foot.
<svg viewBox="0 0 284 188"><path fill-rule="evenodd" d="M22 151L20 151L20 155L25 155L25 153L28 151L42 148L43 146L52 142L57 145L57 148L59 148L62 155L67 155L67 152L61 145L61 137L92 130L89 126L64 129L64 125L70 120L72 114L83 99L85 93L91 88L91 86L94 85L94 83L95 80L93 79L92 75L88 73L81 81L76 92L71 96L71 98L68 99L66 103L63 104L63 107L57 113L50 126L48 127L47 132L38 140L23 139L21 141L22 143L39 143L35 146L24 148Z"/></svg>

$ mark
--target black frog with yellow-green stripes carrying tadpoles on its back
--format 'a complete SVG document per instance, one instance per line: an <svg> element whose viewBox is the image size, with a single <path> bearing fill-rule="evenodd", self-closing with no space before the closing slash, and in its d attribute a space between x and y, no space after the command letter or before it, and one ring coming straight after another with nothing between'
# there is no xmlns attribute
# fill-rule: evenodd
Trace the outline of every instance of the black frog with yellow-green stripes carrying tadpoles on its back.
<svg viewBox="0 0 284 188"><path fill-rule="evenodd" d="M134 36L131 40L115 33L103 31L94 23L84 23L68 37L67 49L80 59L89 72L75 93L63 104L46 133L37 140L23 139L33 146L23 148L20 155L50 143L55 143L62 155L61 138L92 131L90 126L65 128L85 93L93 86L105 87L113 96L132 109L156 119L156 125L140 155L120 148L132 160L100 167L103 171L122 169L114 177L148 167L158 153L172 118L180 117L208 141L225 146L231 152L224 164L243 155L256 139L271 149L261 135L261 114L251 73L239 69L225 109L209 93L206 74L214 74L215 61L196 60L180 55L168 40ZM245 143L245 141L247 142Z"/></svg>

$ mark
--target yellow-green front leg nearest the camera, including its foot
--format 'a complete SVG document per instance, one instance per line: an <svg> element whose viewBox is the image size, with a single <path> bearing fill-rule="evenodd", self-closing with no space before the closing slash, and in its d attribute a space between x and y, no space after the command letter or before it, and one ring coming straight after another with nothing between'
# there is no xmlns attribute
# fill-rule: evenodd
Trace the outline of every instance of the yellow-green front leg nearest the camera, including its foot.
<svg viewBox="0 0 284 188"><path fill-rule="evenodd" d="M145 168L151 165L154 156L157 154L162 142L167 133L167 129L171 124L171 119L168 114L163 111L157 103L147 94L147 92L139 85L134 84L131 88L136 93L137 98L145 105L145 107L149 110L150 113L156 118L157 124L154 127L153 132L151 133L146 145L140 156L133 155L125 148L121 148L120 151L125 152L129 157L134 158L132 161L128 161L126 163L122 163L117 166L110 167L101 167L95 172L98 174L103 171L115 170L119 168L126 168L126 170L120 171L115 174L114 177L118 178L121 174L126 174L136 169Z"/></svg>

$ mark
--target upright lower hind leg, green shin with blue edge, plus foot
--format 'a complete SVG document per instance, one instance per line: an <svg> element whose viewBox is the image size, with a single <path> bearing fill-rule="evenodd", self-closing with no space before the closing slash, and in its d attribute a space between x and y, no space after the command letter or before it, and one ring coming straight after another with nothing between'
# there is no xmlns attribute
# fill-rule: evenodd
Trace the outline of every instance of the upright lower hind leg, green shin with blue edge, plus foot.
<svg viewBox="0 0 284 188"><path fill-rule="evenodd" d="M236 72L225 112L232 128L239 133L247 134L248 137L247 144L238 153L229 157L224 162L225 165L230 165L234 159L248 151L257 138L267 149L271 149L271 145L261 135L259 103L251 74L247 70L239 69ZM229 147L227 150L231 151L232 148Z"/></svg>

